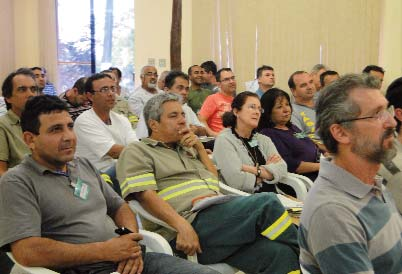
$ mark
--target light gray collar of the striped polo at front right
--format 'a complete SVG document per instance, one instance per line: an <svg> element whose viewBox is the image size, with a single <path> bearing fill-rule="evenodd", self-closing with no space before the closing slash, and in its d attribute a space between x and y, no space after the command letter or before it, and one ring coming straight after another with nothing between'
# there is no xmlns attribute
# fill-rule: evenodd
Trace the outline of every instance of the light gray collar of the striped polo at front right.
<svg viewBox="0 0 402 274"><path fill-rule="evenodd" d="M365 184L350 172L334 164L330 158L322 159L320 161L320 171L318 176L325 178L336 188L359 199L362 199L374 190L382 191L381 177L377 176L375 178L375 185Z"/></svg>

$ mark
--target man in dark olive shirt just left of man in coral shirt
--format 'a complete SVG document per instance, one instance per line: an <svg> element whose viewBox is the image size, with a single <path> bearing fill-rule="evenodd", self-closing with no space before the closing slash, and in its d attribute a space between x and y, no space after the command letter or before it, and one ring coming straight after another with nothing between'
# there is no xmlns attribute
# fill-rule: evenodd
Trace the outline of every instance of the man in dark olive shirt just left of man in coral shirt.
<svg viewBox="0 0 402 274"><path fill-rule="evenodd" d="M188 105L195 113L201 109L205 99L213 92L209 89L201 88L204 83L204 69L198 65L193 65L188 68L188 76L190 77L191 86L188 93Z"/></svg>

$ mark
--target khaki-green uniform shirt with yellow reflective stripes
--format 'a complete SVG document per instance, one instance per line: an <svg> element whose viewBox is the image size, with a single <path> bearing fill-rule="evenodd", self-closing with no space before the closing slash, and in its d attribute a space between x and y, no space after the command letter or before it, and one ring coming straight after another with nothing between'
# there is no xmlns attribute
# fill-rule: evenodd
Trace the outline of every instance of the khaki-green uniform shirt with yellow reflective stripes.
<svg viewBox="0 0 402 274"><path fill-rule="evenodd" d="M219 193L217 178L198 160L194 149L178 145L175 149L150 138L130 143L117 161L117 178L123 198L131 193L155 190L178 214L190 223L196 213L190 211L196 198ZM143 222L147 230L167 239L175 233Z"/></svg>

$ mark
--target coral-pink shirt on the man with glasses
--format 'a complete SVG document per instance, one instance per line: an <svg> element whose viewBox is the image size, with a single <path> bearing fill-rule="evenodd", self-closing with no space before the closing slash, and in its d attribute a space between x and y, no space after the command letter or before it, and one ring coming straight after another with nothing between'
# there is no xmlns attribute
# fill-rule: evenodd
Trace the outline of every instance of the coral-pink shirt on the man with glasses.
<svg viewBox="0 0 402 274"><path fill-rule="evenodd" d="M220 92L209 95L200 109L199 115L207 118L208 127L215 132L223 129L222 115L232 110L233 96Z"/></svg>

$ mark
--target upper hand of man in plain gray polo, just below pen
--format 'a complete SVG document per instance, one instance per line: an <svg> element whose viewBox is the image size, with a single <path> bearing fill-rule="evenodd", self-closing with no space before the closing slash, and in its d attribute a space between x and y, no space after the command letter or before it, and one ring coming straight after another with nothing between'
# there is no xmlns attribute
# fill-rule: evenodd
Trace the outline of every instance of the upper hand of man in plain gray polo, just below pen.
<svg viewBox="0 0 402 274"><path fill-rule="evenodd" d="M141 247L138 244L140 240L141 234L130 233L106 241L105 261L120 262L141 257Z"/></svg>

